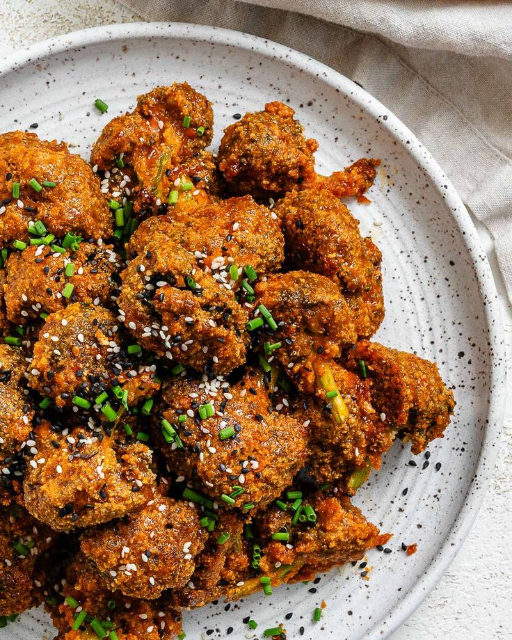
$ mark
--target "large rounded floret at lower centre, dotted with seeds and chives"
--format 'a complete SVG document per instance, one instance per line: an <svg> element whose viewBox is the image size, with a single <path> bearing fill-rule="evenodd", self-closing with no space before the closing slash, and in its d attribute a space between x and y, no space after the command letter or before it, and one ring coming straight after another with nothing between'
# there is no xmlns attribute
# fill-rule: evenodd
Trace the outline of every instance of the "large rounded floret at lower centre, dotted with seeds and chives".
<svg viewBox="0 0 512 640"><path fill-rule="evenodd" d="M214 500L246 510L277 497L306 454L305 427L291 417L260 413L258 393L216 378L171 379L163 384L154 421L171 469Z"/></svg>

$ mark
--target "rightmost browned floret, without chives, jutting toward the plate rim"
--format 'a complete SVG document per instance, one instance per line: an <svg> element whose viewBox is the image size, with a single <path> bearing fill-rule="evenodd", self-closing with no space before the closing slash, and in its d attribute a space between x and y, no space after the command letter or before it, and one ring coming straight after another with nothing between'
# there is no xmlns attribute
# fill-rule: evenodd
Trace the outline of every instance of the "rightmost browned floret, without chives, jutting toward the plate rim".
<svg viewBox="0 0 512 640"><path fill-rule="evenodd" d="M346 366L367 376L371 403L383 424L411 442L413 454L442 438L455 401L433 362L362 340L347 352Z"/></svg>

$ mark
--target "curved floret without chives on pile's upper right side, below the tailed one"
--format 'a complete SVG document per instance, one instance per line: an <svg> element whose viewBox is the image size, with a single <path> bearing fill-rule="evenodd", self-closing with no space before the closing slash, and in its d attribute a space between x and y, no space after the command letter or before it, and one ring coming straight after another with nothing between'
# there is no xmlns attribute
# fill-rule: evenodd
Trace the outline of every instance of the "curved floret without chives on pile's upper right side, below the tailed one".
<svg viewBox="0 0 512 640"><path fill-rule="evenodd" d="M358 335L373 335L384 318L381 252L361 237L349 209L328 191L305 189L287 194L274 211L290 266L333 280L353 310Z"/></svg>

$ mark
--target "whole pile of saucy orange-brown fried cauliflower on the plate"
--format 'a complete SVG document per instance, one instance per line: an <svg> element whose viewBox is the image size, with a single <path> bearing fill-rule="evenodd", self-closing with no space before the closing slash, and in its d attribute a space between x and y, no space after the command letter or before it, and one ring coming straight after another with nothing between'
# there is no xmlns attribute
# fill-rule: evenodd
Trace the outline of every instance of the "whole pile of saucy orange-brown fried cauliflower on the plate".
<svg viewBox="0 0 512 640"><path fill-rule="evenodd" d="M182 609L361 559L388 536L350 497L449 424L437 367L370 341L381 253L344 198L378 161L315 173L281 102L212 133L175 83L90 164L0 135L1 625L182 638Z"/></svg>

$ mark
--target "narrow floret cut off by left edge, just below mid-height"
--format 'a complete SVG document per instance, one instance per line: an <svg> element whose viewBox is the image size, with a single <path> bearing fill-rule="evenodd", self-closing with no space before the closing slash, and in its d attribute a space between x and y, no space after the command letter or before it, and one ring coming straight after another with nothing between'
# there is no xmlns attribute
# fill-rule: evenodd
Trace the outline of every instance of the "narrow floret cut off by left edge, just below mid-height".
<svg viewBox="0 0 512 640"><path fill-rule="evenodd" d="M34 412L31 401L24 393L25 369L23 352L7 344L0 344L1 463L17 454L32 429Z"/></svg>

